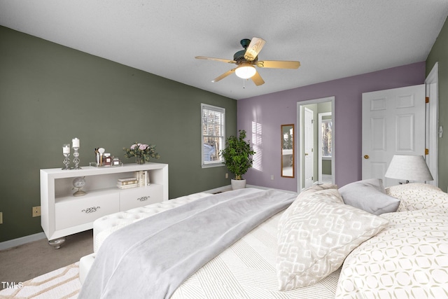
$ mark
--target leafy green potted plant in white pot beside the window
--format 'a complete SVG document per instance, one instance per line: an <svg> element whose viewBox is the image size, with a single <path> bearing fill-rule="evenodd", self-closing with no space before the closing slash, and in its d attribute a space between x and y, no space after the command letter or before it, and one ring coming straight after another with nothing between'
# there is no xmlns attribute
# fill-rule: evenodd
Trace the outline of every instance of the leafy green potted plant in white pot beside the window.
<svg viewBox="0 0 448 299"><path fill-rule="evenodd" d="M248 141L245 141L246 131L239 130L239 137L230 136L225 141L225 149L220 152L224 158L223 164L227 166L232 174L235 174L235 179L232 179L232 189L239 189L246 187L246 180L242 175L252 167L252 155L255 152L252 150Z"/></svg>

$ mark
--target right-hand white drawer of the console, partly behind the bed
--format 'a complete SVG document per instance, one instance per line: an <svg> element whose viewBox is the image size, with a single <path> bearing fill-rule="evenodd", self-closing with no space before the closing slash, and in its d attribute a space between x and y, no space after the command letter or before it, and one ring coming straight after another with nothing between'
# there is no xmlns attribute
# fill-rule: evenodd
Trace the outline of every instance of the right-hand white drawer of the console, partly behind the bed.
<svg viewBox="0 0 448 299"><path fill-rule="evenodd" d="M163 201L163 186L152 183L146 187L120 190L120 211Z"/></svg>

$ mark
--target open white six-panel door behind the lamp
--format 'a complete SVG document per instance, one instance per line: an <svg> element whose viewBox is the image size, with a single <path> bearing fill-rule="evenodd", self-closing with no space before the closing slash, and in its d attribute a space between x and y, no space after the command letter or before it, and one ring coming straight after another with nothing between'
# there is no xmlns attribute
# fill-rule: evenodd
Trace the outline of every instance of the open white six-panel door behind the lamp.
<svg viewBox="0 0 448 299"><path fill-rule="evenodd" d="M425 104L424 84L363 93L363 179L398 185L384 177L393 155L425 155Z"/></svg>

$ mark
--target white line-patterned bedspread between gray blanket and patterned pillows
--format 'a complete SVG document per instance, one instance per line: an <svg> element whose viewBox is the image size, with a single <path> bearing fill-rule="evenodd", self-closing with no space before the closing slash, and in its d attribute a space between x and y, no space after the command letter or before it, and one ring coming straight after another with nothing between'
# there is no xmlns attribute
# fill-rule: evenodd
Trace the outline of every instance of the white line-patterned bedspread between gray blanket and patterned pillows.
<svg viewBox="0 0 448 299"><path fill-rule="evenodd" d="M317 284L278 291L277 225L281 211L258 225L188 278L172 299L327 299L335 298L340 269Z"/></svg>

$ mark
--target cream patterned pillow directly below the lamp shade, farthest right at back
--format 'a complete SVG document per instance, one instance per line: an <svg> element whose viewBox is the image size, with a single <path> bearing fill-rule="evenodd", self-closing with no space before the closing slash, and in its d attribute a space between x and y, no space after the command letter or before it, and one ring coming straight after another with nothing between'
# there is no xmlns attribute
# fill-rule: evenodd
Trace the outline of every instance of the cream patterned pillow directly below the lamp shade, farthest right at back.
<svg viewBox="0 0 448 299"><path fill-rule="evenodd" d="M400 199L398 211L437 207L448 211L448 194L428 183L405 183L386 188L386 193Z"/></svg>

